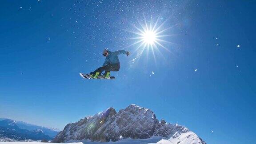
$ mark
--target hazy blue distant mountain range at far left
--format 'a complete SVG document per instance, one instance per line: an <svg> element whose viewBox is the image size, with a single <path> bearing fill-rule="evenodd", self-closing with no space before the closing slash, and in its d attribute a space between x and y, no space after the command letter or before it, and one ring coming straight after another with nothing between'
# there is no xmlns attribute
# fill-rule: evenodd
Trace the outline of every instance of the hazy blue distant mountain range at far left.
<svg viewBox="0 0 256 144"><path fill-rule="evenodd" d="M0 139L20 140L52 140L59 131L34 124L0 118Z"/></svg>

